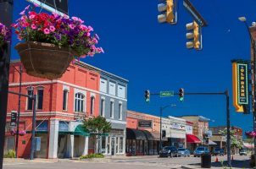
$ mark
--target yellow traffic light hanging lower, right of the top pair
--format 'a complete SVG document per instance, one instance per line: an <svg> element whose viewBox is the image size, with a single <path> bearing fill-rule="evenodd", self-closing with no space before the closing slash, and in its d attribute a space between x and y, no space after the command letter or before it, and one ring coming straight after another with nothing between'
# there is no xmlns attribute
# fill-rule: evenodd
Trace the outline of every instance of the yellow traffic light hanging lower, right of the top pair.
<svg viewBox="0 0 256 169"><path fill-rule="evenodd" d="M186 30L192 30L186 33L186 39L192 40L186 42L186 48L202 49L201 27L196 21L186 24Z"/></svg>

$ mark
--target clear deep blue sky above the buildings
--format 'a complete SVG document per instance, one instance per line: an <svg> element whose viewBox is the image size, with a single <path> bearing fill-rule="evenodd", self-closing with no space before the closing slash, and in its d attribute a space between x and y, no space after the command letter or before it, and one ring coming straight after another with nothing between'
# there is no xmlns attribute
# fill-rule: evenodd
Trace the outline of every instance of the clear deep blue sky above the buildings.
<svg viewBox="0 0 256 169"><path fill-rule="evenodd" d="M190 96L179 102L172 98L151 97L144 101L144 90L158 92L184 88L186 92L231 91L231 59L250 58L246 27L237 17L256 19L254 0L191 0L208 26L203 28L203 51L186 49L186 23L192 16L178 0L178 24L159 24L159 0L70 0L70 16L92 25L100 36L105 54L82 60L110 73L129 79L128 108L159 115L159 106L176 104L164 116L201 115L225 125L225 96ZM14 19L28 3L14 0ZM17 41L13 41L16 44ZM18 58L12 52L12 59ZM231 99L231 125L252 130L252 115L234 111Z"/></svg>

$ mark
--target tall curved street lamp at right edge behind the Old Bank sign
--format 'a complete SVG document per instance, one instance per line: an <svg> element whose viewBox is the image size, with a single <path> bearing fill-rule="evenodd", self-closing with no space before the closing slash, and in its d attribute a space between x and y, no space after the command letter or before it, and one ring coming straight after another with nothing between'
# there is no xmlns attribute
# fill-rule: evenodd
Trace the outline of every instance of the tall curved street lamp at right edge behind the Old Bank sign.
<svg viewBox="0 0 256 169"><path fill-rule="evenodd" d="M251 41L251 47L253 48L253 60L251 58L251 72L252 72L252 99L253 99L253 131L255 131L255 122L256 122L256 116L255 116L255 112L256 112L256 105L255 105L255 94L256 94L256 88L255 88L255 72L256 72L256 66L255 66L255 61L256 61L256 52L255 52L255 41L253 40L253 36L251 34L250 31L250 27L248 25L247 19L242 16L238 18L240 21L242 21L248 30L248 34L250 37L250 41ZM255 23L252 24L253 27L256 25ZM256 144L256 139L254 137L254 161L256 161L256 149L255 149L255 144Z"/></svg>

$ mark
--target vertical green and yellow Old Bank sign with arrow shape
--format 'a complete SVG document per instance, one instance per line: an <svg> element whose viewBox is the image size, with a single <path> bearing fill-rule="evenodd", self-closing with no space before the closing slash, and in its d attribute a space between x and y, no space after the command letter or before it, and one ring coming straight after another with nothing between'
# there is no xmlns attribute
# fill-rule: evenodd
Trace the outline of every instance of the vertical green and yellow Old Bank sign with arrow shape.
<svg viewBox="0 0 256 169"><path fill-rule="evenodd" d="M249 104L248 95L248 63L233 61L233 104L237 112L248 112L245 107Z"/></svg>

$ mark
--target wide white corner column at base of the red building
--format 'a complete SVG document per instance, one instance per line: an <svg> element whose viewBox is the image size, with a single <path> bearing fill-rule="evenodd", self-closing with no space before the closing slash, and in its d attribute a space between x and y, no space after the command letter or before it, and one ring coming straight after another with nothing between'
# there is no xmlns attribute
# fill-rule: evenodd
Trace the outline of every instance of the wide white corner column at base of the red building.
<svg viewBox="0 0 256 169"><path fill-rule="evenodd" d="M58 158L58 120L50 120L50 138L48 158Z"/></svg>

